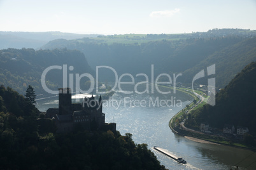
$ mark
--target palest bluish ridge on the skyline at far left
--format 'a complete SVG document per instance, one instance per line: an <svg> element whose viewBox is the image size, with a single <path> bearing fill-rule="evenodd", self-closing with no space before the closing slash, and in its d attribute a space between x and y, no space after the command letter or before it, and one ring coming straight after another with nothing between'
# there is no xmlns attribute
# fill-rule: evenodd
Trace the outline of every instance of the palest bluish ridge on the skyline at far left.
<svg viewBox="0 0 256 170"><path fill-rule="evenodd" d="M97 37L99 34L73 34L66 32L5 32L0 31L0 49L40 48L54 39Z"/></svg>

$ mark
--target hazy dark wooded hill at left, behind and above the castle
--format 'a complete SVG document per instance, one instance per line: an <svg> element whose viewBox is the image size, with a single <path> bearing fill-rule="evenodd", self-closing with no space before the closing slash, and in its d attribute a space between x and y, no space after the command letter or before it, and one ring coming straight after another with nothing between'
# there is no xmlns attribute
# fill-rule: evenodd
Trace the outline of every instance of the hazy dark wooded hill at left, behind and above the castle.
<svg viewBox="0 0 256 170"><path fill-rule="evenodd" d="M52 90L63 86L63 65L67 65L68 75L74 74L74 77L75 74L81 75L86 72L94 75L94 71L80 51L3 49L0 51L0 84L10 86L23 95L29 84L37 94L46 93L41 86L41 75L47 67L53 65L59 65L62 69L53 69L46 74L46 85ZM73 66L72 71L69 70L70 66ZM67 81L69 82L69 79ZM84 87L85 81L87 80L81 80L81 87Z"/></svg>

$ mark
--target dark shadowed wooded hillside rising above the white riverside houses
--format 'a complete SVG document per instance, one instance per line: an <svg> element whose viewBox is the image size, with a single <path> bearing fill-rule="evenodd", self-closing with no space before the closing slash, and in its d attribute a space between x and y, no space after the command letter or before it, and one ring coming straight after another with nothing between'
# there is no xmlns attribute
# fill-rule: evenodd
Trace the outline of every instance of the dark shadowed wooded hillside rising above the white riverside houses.
<svg viewBox="0 0 256 170"><path fill-rule="evenodd" d="M231 82L216 95L216 105L204 105L192 113L186 121L192 126L209 122L215 128L224 124L245 126L256 132L256 62L245 67Z"/></svg>

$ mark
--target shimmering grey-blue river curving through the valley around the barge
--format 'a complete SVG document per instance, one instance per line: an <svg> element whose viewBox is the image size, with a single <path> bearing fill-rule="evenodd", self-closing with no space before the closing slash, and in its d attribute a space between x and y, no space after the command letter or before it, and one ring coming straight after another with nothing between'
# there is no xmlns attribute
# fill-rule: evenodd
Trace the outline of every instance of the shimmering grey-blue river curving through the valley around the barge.
<svg viewBox="0 0 256 170"><path fill-rule="evenodd" d="M134 91L134 86L122 86L125 91ZM142 92L145 86L138 86ZM171 117L190 103L193 98L186 93L173 89L159 88L160 91L171 91L162 95L157 89L150 93L124 94L119 89L110 100L104 101L103 112L106 122L116 122L121 134L132 133L135 143L146 143L167 169L256 169L256 153L250 150L227 147L223 145L197 143L174 134L169 129ZM75 100L74 100L75 102ZM38 100L40 111L58 107L58 98ZM187 164L179 164L166 155L153 150L153 146L164 148L176 156L183 157Z"/></svg>

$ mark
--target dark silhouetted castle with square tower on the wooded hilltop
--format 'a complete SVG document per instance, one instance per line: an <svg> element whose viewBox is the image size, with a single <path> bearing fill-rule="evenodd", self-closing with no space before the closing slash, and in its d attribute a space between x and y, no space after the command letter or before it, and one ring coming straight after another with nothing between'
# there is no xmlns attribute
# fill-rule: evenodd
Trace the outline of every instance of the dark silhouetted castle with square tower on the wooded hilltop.
<svg viewBox="0 0 256 170"><path fill-rule="evenodd" d="M46 117L54 119L56 133L71 132L76 127L87 131L106 128L116 130L115 123L105 123L101 96L99 100L92 95L90 98L85 97L82 103L72 103L70 88L59 88L59 108L48 108Z"/></svg>

